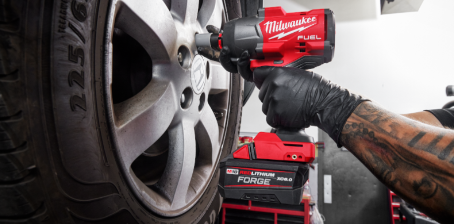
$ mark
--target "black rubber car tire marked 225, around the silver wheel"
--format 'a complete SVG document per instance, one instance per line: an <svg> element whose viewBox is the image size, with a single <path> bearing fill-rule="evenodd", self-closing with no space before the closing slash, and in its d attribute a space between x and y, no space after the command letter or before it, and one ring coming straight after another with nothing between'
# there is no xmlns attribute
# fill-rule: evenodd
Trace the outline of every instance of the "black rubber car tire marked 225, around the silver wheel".
<svg viewBox="0 0 454 224"><path fill-rule="evenodd" d="M216 166L201 196L174 216L150 209L121 168L103 76L111 3L0 6L0 223L215 222L222 203ZM223 4L225 20L241 16L237 1ZM231 74L228 99L217 161L238 144L238 74Z"/></svg>

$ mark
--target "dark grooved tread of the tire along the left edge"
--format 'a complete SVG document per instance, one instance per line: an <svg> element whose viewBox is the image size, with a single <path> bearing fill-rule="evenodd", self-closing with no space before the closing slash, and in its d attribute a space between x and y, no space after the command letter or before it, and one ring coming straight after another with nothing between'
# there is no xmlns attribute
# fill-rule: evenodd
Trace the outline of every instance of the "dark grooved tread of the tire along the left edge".
<svg viewBox="0 0 454 224"><path fill-rule="evenodd" d="M19 69L25 41L21 3L2 0L0 5L0 224L40 223L47 217L22 117L27 98Z"/></svg>

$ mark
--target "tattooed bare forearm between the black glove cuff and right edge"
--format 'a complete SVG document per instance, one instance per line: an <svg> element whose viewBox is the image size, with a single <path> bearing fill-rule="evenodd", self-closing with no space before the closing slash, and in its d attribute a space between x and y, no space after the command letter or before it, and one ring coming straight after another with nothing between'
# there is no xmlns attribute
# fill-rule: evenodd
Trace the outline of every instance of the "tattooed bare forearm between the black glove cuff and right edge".
<svg viewBox="0 0 454 224"><path fill-rule="evenodd" d="M454 131L440 126L366 101L347 119L340 142L405 201L440 223L453 223Z"/></svg>

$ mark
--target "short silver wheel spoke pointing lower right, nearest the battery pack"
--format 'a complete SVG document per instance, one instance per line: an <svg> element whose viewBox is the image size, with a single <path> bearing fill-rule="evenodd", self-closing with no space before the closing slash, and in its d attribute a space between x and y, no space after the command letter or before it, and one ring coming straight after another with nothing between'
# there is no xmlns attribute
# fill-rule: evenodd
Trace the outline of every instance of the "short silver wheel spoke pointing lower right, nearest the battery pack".
<svg viewBox="0 0 454 224"><path fill-rule="evenodd" d="M213 110L203 108L200 121L195 127L197 141L200 145L200 156L211 155L211 164L216 162L219 154L219 127Z"/></svg>

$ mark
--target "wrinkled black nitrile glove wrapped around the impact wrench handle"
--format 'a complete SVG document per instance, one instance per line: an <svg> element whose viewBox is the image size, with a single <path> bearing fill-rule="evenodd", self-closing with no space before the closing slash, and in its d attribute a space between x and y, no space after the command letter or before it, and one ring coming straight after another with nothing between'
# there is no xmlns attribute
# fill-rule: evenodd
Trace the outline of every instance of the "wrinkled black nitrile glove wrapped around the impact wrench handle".
<svg viewBox="0 0 454 224"><path fill-rule="evenodd" d="M363 101L359 95L298 68L264 66L254 70L254 83L267 123L273 128L318 126L339 143L347 118Z"/></svg>

